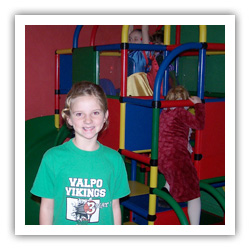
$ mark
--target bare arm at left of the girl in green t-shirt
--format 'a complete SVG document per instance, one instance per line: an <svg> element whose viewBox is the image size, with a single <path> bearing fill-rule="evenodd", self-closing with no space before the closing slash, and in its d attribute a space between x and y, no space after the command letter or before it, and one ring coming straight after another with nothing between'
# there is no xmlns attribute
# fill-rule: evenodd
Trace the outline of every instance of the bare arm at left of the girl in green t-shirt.
<svg viewBox="0 0 250 250"><path fill-rule="evenodd" d="M39 224L52 225L54 215L54 200L41 198Z"/></svg>

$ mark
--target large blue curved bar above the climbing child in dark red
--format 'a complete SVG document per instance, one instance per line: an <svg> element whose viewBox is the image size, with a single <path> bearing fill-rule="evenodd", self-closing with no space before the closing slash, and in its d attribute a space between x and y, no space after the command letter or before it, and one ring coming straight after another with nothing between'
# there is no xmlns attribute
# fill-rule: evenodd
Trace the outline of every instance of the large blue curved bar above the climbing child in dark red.
<svg viewBox="0 0 250 250"><path fill-rule="evenodd" d="M171 51L171 53L169 53L169 55L163 60L155 78L154 95L153 95L154 101L160 101L162 77L164 75L165 69L169 66L169 64L173 61L173 59L184 51L193 50L193 49L199 50L201 48L202 48L201 43L186 43L186 44L180 45L179 47Z"/></svg>

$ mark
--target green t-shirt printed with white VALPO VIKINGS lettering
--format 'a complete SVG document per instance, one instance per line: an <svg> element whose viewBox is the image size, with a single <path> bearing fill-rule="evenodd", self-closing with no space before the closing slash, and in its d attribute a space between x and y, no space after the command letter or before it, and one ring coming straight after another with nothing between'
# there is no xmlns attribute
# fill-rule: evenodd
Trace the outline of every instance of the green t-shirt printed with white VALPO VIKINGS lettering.
<svg viewBox="0 0 250 250"><path fill-rule="evenodd" d="M122 157L99 143L83 151L70 140L43 156L31 193L54 199L54 225L113 225L112 200L130 193Z"/></svg>

